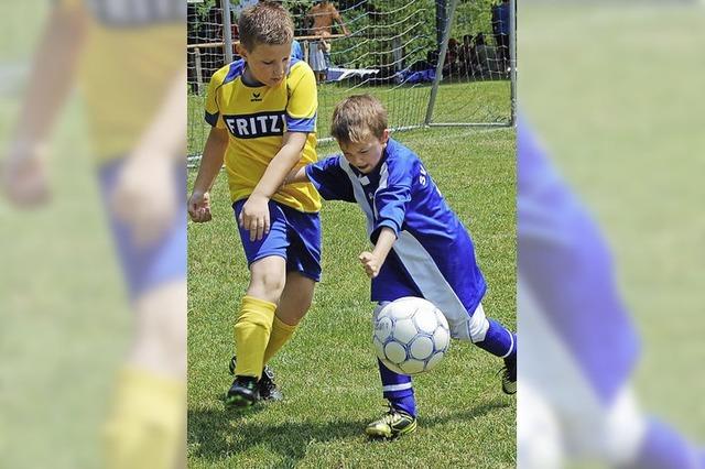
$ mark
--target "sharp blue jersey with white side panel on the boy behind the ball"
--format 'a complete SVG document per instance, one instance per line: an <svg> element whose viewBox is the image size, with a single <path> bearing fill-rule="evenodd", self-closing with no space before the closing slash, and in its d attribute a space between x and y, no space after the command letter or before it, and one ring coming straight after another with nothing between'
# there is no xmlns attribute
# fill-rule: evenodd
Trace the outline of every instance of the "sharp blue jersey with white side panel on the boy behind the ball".
<svg viewBox="0 0 705 469"><path fill-rule="evenodd" d="M306 166L306 175L323 198L360 206L372 242L382 227L397 233L393 251L372 280L372 301L423 296L444 312L452 328L471 327L467 318L485 294L485 279L469 233L419 156L390 139L369 174L336 155Z"/></svg>

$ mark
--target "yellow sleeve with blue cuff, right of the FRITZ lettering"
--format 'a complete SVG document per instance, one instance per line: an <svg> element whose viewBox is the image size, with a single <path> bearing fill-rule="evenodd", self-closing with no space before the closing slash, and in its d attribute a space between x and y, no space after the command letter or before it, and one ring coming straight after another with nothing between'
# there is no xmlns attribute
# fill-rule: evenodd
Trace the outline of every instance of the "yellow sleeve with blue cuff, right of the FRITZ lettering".
<svg viewBox="0 0 705 469"><path fill-rule="evenodd" d="M313 70L304 62L292 65L286 103L288 132L315 132L318 94Z"/></svg>

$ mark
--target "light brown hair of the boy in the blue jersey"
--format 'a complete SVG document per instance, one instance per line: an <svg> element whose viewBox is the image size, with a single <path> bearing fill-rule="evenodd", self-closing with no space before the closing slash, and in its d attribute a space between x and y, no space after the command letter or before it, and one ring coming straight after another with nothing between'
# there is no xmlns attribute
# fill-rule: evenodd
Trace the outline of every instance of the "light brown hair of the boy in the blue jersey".
<svg viewBox="0 0 705 469"><path fill-rule="evenodd" d="M340 143L358 143L370 135L381 139L387 129L387 110L370 95L352 95L333 111L330 134Z"/></svg>

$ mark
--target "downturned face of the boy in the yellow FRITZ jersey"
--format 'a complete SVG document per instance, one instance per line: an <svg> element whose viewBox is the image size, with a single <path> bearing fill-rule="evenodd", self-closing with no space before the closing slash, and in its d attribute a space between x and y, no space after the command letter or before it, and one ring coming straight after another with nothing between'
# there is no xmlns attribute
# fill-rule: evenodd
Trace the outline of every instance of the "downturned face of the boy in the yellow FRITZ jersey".
<svg viewBox="0 0 705 469"><path fill-rule="evenodd" d="M264 86L279 85L286 75L291 43L281 45L258 44L251 51L238 45L238 53L247 61L247 78Z"/></svg>

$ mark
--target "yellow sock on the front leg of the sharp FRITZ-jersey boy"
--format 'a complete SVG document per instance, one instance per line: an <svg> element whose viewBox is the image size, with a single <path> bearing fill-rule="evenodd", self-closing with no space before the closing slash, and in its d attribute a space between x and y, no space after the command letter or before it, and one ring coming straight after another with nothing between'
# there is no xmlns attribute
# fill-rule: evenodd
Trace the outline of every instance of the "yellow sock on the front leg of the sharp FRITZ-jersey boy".
<svg viewBox="0 0 705 469"><path fill-rule="evenodd" d="M242 298L240 316L235 324L235 347L238 356L235 374L261 378L274 310L274 303L249 295Z"/></svg>

